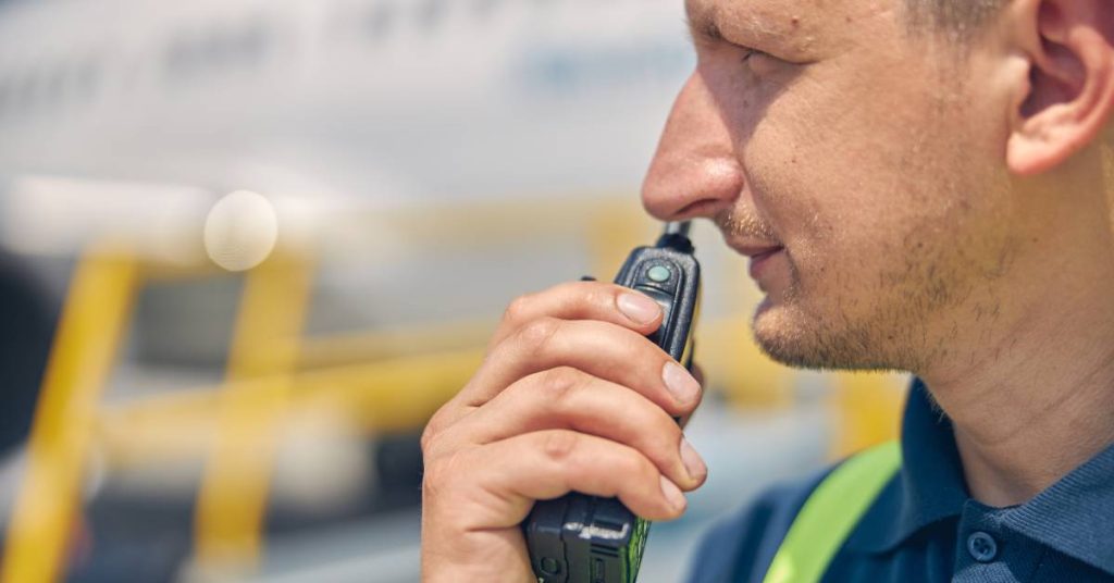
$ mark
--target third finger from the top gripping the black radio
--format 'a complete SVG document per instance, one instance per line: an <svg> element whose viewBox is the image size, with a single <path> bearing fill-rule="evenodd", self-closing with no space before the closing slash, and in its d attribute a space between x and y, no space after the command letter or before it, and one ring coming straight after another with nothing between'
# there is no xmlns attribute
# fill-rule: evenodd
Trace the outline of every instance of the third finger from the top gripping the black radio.
<svg viewBox="0 0 1114 583"><path fill-rule="evenodd" d="M573 368L526 377L449 429L447 443L483 445L547 429L571 429L638 450L683 489L707 467L661 407L637 392Z"/></svg>

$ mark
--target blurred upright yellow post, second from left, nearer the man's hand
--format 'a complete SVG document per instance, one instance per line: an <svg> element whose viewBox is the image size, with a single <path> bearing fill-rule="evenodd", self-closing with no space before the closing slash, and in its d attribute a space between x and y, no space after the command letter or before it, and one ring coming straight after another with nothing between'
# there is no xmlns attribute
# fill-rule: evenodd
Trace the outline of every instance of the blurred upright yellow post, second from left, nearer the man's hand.
<svg viewBox="0 0 1114 583"><path fill-rule="evenodd" d="M258 558L311 270L304 255L280 250L246 276L228 357L229 388L218 400L216 444L197 498L195 546L202 565L250 569Z"/></svg>

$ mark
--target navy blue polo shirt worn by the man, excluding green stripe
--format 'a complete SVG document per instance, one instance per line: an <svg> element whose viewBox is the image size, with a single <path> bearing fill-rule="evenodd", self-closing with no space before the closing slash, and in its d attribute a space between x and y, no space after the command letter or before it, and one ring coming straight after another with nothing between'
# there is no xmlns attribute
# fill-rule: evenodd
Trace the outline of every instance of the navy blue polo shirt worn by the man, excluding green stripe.
<svg viewBox="0 0 1114 583"><path fill-rule="evenodd" d="M903 464L851 532L823 582L1114 581L1114 446L1029 502L967 494L951 422L913 382ZM709 532L692 583L761 583L789 526L831 468L773 488Z"/></svg>

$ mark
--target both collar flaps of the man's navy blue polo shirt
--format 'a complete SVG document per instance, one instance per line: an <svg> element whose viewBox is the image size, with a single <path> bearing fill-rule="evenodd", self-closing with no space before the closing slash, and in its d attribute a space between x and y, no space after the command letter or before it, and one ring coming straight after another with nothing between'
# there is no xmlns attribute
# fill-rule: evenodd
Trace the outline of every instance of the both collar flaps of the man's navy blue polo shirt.
<svg viewBox="0 0 1114 583"><path fill-rule="evenodd" d="M951 421L919 379L906 405L901 454L901 470L848 540L850 550L886 552L962 513L969 495ZM1004 511L1008 528L1114 574L1114 446L1029 502Z"/></svg>

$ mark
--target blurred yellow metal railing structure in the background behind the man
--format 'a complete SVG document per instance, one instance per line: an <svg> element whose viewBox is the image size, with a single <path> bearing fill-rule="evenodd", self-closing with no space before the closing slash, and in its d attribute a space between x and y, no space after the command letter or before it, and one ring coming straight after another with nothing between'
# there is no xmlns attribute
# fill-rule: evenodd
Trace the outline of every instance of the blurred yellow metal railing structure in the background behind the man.
<svg viewBox="0 0 1114 583"><path fill-rule="evenodd" d="M594 214L587 211L593 207ZM424 222L411 217L393 224L453 245L477 244L476 233L495 240L536 235L538 208L495 205L488 211L469 214L481 217L482 229L475 222L463 229L458 212L440 218L421 214ZM618 268L632 244L653 235L654 225L633 204L593 206L580 201L545 215L549 225L592 217L585 241L594 258L589 268L600 279ZM469 236L446 235L457 231ZM735 273L734 268L724 271ZM30 469L7 541L4 583L57 580L89 441L104 448L111 467L153 457L206 459L195 516L197 560L203 566L251 569L262 548L275 438L291 411L332 409L369 435L413 430L481 362L491 323L303 338L312 269L309 258L280 250L248 273L224 385L98 410L140 278L218 272L203 266L140 270L138 261L123 252L86 256L74 276L37 411ZM740 303L755 297L741 275L729 285L731 297L743 299ZM750 315L741 313L705 319L696 339L698 360L736 406L790 405L795 373L761 354L750 338L749 321ZM832 411L843 428L833 455L896 433L901 391L893 389L892 378L833 379Z"/></svg>

